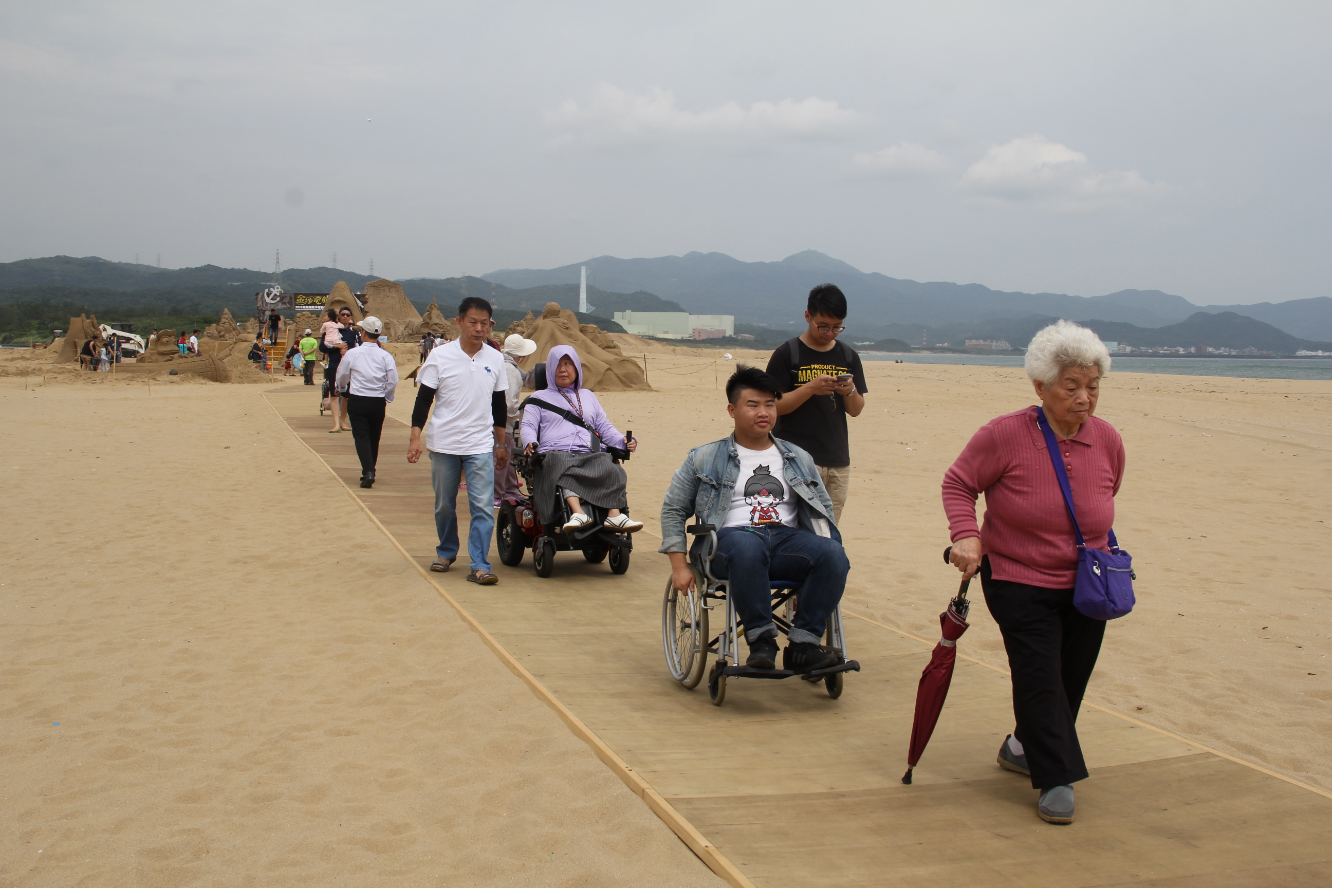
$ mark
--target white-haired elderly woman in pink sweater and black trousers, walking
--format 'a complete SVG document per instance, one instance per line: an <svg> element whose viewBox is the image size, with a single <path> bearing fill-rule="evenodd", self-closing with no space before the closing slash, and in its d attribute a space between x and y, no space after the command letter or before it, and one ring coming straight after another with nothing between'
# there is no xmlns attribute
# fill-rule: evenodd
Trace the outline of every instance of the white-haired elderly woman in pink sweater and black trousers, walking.
<svg viewBox="0 0 1332 888"><path fill-rule="evenodd" d="M1110 353L1091 330L1059 321L1031 339L1026 366L1059 442L1087 547L1108 551L1124 443L1094 414ZM999 747L999 766L1031 777L1043 820L1072 823L1071 784L1087 776L1074 722L1106 623L1074 607L1078 546L1036 407L991 419L972 435L943 477L943 507L952 563L966 576L980 572L1008 652L1018 727Z"/></svg>

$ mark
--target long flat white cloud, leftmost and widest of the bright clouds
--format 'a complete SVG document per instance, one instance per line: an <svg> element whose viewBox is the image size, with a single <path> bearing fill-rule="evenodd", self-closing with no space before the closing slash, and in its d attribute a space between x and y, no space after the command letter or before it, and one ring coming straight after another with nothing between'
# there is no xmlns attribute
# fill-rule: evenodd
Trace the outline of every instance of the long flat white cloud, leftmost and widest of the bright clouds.
<svg viewBox="0 0 1332 888"><path fill-rule="evenodd" d="M835 138L863 122L863 114L827 99L757 101L749 108L729 101L705 111L686 111L675 95L653 89L634 95L601 84L585 101L569 99L546 113L562 132L553 145L653 145L662 142L722 142L761 148L789 138Z"/></svg>

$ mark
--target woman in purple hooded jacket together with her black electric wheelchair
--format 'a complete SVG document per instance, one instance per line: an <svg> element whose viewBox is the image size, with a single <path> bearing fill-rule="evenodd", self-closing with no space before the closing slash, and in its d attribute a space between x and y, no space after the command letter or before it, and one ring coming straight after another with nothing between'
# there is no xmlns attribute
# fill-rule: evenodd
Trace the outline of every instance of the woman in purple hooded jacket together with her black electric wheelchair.
<svg viewBox="0 0 1332 888"><path fill-rule="evenodd" d="M554 367L547 374L547 367ZM550 576L557 551L582 551L610 570L629 570L630 534L642 522L629 517L627 478L621 462L637 449L633 433L619 434L597 395L582 387L582 362L570 346L550 349L533 374L535 393L522 402L514 458L527 494L500 505L500 560L510 567L531 546L537 576ZM605 443L603 443L605 441Z"/></svg>

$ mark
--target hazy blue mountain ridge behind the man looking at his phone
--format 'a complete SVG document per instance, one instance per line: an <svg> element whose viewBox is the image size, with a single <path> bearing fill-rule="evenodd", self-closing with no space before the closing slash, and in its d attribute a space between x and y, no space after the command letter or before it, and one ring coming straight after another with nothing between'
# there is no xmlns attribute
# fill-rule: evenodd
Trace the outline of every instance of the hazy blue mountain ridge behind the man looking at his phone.
<svg viewBox="0 0 1332 888"><path fill-rule="evenodd" d="M723 253L686 253L622 260L601 256L553 269L502 269L484 274L511 288L571 284L586 265L597 286L630 293L647 290L690 312L734 314L737 321L790 329L805 310L810 288L826 281L842 288L851 304L855 338L898 337L888 325L938 328L959 318L976 321L1030 316L1075 321L1103 318L1160 328L1188 318L1201 306L1160 290L1120 290L1080 297L1062 293L991 290L979 284L919 282L859 269L817 250L779 262L742 262ZM1264 320L1292 335L1332 339L1332 298L1208 306ZM899 337L902 338L902 337ZM907 338L908 342L914 339Z"/></svg>

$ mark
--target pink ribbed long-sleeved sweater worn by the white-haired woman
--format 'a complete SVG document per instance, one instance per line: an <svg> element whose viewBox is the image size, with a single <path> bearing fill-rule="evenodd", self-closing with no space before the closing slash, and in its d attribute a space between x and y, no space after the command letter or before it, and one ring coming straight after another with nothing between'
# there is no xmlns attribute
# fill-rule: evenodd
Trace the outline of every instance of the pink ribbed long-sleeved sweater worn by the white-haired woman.
<svg viewBox="0 0 1332 888"><path fill-rule="evenodd" d="M1074 438L1059 442L1059 450L1087 546L1108 550L1115 494L1124 479L1124 442L1112 425L1091 417ZM986 495L983 527L976 526L980 494ZM943 475L943 510L954 542L979 534L995 579L1072 587L1078 543L1035 406L980 426Z"/></svg>

